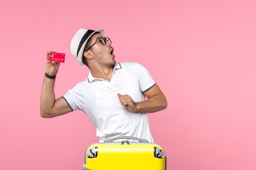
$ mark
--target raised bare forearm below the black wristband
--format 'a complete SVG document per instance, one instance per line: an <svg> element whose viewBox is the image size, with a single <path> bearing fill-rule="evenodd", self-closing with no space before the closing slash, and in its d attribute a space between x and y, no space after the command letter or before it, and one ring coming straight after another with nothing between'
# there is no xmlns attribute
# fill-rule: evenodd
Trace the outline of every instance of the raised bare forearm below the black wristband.
<svg viewBox="0 0 256 170"><path fill-rule="evenodd" d="M41 97L40 97L41 115L44 112L49 113L54 106L54 103L55 103L54 84L55 84L55 79L50 79L45 77L43 81L43 87L42 87Z"/></svg>

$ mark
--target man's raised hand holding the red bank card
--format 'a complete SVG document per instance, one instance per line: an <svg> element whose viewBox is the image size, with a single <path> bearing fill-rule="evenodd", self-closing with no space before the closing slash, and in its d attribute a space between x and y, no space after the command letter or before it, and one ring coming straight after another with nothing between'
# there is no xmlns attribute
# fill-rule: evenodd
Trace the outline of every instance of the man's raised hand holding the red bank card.
<svg viewBox="0 0 256 170"><path fill-rule="evenodd" d="M47 51L46 53L46 63L45 63L45 73L48 75L56 75L58 73L58 68L60 67L60 62L50 61L50 53L57 53L56 51Z"/></svg>

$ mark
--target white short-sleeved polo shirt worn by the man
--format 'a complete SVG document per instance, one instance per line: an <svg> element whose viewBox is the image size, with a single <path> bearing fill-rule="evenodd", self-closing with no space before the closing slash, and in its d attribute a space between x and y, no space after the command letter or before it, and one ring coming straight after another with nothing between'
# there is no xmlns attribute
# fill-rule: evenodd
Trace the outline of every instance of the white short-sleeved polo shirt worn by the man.
<svg viewBox="0 0 256 170"><path fill-rule="evenodd" d="M131 136L153 142L146 113L132 113L121 105L117 93L129 95L134 102L145 101L143 92L155 85L147 69L139 63L116 63L111 81L88 78L76 84L63 98L72 110L85 112L97 129L99 142Z"/></svg>

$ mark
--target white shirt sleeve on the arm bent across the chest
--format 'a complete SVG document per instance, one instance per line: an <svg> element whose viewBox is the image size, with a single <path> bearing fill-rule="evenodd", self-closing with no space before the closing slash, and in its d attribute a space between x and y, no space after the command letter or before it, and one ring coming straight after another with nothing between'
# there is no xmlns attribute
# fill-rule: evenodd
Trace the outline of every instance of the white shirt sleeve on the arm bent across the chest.
<svg viewBox="0 0 256 170"><path fill-rule="evenodd" d="M144 66L136 63L135 68L137 80L139 82L139 89L142 93L144 93L153 87L156 83Z"/></svg>

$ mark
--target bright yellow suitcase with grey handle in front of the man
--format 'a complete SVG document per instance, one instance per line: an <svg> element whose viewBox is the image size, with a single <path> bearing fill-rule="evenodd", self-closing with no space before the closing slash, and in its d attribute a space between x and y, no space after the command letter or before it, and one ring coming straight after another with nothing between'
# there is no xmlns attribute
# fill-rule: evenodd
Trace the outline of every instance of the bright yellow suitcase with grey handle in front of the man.
<svg viewBox="0 0 256 170"><path fill-rule="evenodd" d="M166 170L166 155L158 144L145 139L117 137L90 145L83 170Z"/></svg>

